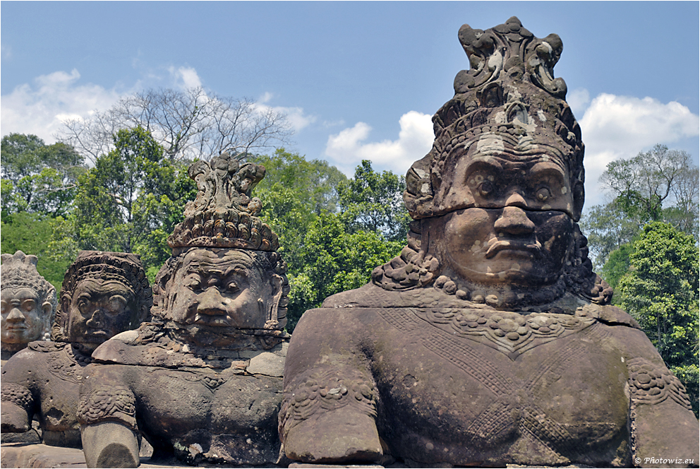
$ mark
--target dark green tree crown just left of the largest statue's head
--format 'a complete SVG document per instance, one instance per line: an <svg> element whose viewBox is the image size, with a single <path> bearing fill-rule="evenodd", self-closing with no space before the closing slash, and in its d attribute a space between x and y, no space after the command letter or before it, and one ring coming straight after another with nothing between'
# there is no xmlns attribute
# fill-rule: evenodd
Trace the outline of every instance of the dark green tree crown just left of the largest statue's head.
<svg viewBox="0 0 700 469"><path fill-rule="evenodd" d="M382 233L390 241L402 241L411 218L404 206L404 177L390 171L375 172L363 160L355 177L338 186L339 205L349 230Z"/></svg>

